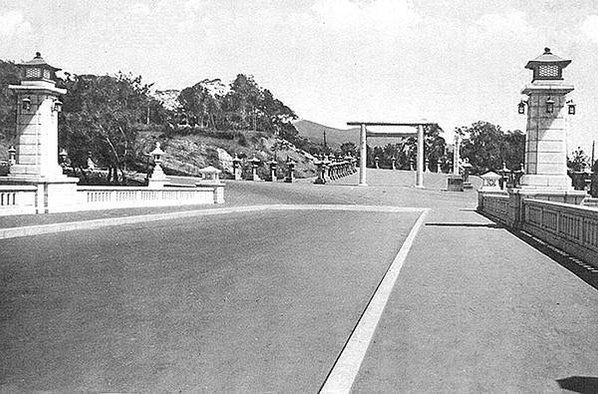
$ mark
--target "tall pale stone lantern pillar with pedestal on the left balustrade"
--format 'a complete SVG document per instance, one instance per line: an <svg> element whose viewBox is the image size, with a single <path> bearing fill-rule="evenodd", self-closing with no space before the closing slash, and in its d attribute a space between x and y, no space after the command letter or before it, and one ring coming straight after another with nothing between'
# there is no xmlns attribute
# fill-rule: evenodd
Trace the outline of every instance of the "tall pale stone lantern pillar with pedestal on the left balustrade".
<svg viewBox="0 0 598 394"><path fill-rule="evenodd" d="M17 98L17 125L14 164L0 184L35 185L36 212L64 212L78 209L77 178L68 178L58 164L58 114L61 95L56 87L56 71L38 52L18 64L20 85L9 89Z"/></svg>

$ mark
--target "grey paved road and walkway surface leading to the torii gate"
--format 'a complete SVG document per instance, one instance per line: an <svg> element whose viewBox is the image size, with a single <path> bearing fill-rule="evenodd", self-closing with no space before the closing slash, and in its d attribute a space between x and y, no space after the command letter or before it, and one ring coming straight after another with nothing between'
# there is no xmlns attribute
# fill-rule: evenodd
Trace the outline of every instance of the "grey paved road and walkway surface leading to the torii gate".
<svg viewBox="0 0 598 394"><path fill-rule="evenodd" d="M225 206L431 208L355 392L598 392L598 278L446 179L229 182ZM214 207L2 218L0 227ZM316 392L417 218L285 211L0 240L0 391Z"/></svg>

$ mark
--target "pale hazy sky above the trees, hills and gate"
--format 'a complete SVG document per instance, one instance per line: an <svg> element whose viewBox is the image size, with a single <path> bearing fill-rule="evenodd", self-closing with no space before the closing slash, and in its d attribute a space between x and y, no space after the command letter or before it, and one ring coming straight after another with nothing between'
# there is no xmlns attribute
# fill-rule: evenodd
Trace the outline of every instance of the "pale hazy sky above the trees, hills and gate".
<svg viewBox="0 0 598 394"><path fill-rule="evenodd" d="M544 47L578 104L569 150L598 138L592 0L0 0L0 58L36 51L72 73L140 74L158 89L251 74L301 118L477 120L525 129L524 69ZM589 153L589 152L588 152Z"/></svg>

